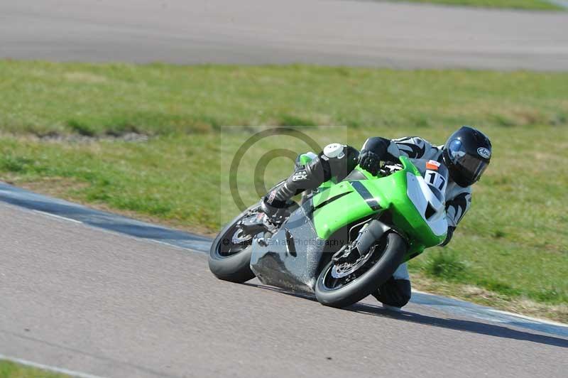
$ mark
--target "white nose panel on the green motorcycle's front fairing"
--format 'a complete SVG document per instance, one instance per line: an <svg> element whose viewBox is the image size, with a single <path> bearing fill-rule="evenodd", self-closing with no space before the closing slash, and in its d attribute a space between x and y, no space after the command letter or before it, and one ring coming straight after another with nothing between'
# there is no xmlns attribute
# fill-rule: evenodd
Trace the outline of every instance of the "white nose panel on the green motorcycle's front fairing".
<svg viewBox="0 0 568 378"><path fill-rule="evenodd" d="M408 198L410 198L416 210L420 212L422 218L430 226L432 232L439 237L444 236L448 229L445 203L440 201L435 194L432 193L430 186L428 186L422 176L407 173L406 178L408 183ZM430 216L426 217L428 205L430 205L434 212L430 211Z"/></svg>

